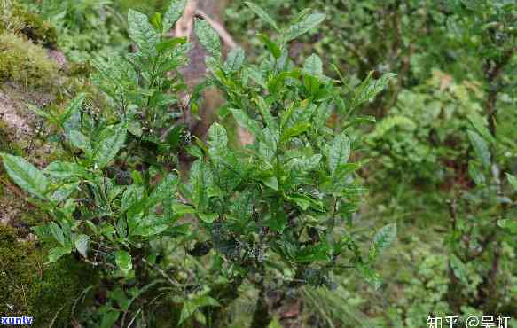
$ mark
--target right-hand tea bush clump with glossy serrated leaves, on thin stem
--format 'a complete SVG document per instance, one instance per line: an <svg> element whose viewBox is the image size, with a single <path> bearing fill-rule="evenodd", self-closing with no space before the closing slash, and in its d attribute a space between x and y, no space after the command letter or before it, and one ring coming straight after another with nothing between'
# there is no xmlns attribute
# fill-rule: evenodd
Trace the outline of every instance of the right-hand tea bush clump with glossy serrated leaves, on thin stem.
<svg viewBox="0 0 517 328"><path fill-rule="evenodd" d="M332 273L352 268L374 280L369 264L395 238L395 226L388 225L369 256L360 254L347 231L364 194L354 175L361 164L349 162L356 138L327 124L342 106L351 111L380 92L389 75L365 81L344 104L340 82L325 76L317 55L301 68L288 58L287 43L324 16L302 12L280 28L260 7L247 5L280 33L279 43L259 35L269 53L258 66L247 64L241 49L221 61L216 35L202 21L196 26L211 55L208 82L228 100L220 114L231 113L254 142L232 150L223 126L212 125L208 146L196 151L185 195L208 230L205 249L213 247L233 276L248 277L259 288L252 325L267 326L268 291L333 288Z"/></svg>

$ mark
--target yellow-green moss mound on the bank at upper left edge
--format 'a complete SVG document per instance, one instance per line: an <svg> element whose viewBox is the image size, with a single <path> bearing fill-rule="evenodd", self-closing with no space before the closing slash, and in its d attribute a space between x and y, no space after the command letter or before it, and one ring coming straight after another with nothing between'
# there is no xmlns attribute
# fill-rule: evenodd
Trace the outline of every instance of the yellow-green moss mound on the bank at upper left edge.
<svg viewBox="0 0 517 328"><path fill-rule="evenodd" d="M0 82L48 86L55 82L58 70L41 46L12 33L0 35Z"/></svg>

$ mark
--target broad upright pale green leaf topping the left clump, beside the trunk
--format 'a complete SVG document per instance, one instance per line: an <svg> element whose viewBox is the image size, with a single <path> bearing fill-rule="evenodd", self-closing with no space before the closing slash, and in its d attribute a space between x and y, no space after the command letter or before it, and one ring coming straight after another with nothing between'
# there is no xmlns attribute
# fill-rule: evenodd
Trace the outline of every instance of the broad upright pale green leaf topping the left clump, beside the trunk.
<svg viewBox="0 0 517 328"><path fill-rule="evenodd" d="M160 41L160 35L156 33L147 16L142 12L129 9L128 12L129 38L137 43L139 50L145 57L156 54L156 45Z"/></svg>

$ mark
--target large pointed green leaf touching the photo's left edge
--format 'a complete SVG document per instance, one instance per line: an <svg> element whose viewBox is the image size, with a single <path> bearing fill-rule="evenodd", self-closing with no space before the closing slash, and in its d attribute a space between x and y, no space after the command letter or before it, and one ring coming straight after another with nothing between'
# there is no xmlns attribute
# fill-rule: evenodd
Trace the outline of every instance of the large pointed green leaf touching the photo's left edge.
<svg viewBox="0 0 517 328"><path fill-rule="evenodd" d="M7 153L2 153L1 156L5 171L15 184L39 198L45 198L48 181L41 170L19 156Z"/></svg>

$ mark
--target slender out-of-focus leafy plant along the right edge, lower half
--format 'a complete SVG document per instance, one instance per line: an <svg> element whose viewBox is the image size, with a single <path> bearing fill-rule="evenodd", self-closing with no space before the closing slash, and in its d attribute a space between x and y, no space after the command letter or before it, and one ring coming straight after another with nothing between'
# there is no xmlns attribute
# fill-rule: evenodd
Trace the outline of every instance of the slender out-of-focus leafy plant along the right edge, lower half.
<svg viewBox="0 0 517 328"><path fill-rule="evenodd" d="M482 120L470 117L467 130L474 158L468 173L474 187L457 191L449 200L451 308L468 304L485 314L507 313L514 297L505 294L512 284L509 258L517 246L514 195L517 178L506 171L505 157L517 150L513 140L494 137ZM504 172L505 171L505 172Z"/></svg>

